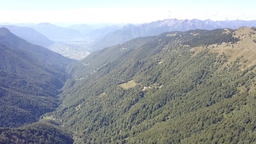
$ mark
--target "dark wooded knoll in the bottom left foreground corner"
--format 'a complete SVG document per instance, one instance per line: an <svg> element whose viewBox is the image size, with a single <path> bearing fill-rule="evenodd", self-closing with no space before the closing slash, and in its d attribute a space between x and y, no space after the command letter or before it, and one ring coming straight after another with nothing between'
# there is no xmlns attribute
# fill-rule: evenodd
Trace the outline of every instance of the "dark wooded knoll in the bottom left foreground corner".
<svg viewBox="0 0 256 144"><path fill-rule="evenodd" d="M37 122L19 128L0 128L0 143L73 143L72 135L63 127Z"/></svg>

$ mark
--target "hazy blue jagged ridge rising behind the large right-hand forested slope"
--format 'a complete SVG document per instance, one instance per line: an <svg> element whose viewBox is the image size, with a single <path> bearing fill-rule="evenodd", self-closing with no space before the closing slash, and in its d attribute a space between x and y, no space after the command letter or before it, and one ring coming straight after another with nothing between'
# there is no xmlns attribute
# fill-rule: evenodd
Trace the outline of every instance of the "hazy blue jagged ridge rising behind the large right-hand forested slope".
<svg viewBox="0 0 256 144"><path fill-rule="evenodd" d="M165 19L158 20L156 22L150 22L147 24L130 24L124 26L122 29L108 33L95 40L95 44L92 49L98 50L111 45L120 44L131 40L132 38L138 38L141 36L154 36L160 35L167 31L188 31L191 29L219 29L230 28L236 29L241 26L256 26L256 20L178 20L178 19Z"/></svg>

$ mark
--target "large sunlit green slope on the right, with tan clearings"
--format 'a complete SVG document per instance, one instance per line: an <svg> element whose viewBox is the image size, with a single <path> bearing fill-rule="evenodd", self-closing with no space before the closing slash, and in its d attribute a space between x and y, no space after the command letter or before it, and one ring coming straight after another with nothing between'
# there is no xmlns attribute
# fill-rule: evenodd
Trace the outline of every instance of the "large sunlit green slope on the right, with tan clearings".
<svg viewBox="0 0 256 144"><path fill-rule="evenodd" d="M256 29L168 32L71 65L53 116L76 143L253 143Z"/></svg>

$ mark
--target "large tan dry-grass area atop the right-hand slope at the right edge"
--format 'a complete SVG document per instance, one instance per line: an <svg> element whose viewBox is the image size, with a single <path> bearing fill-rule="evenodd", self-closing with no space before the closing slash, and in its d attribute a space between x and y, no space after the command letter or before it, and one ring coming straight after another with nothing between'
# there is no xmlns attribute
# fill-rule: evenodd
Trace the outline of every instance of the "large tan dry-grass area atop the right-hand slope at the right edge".
<svg viewBox="0 0 256 144"><path fill-rule="evenodd" d="M225 29L225 33L230 33L228 29ZM224 33L224 34L225 34ZM231 63L232 61L235 61L237 58L243 58L243 62L241 63L243 67L241 67L241 70L244 70L245 68L251 67L252 65L256 64L256 31L253 28L239 28L234 31L233 36L236 38L239 38L239 42L236 42L236 44L231 43L222 43L220 45L213 44L206 47L211 52L217 52L218 54L221 54L224 52L227 55L228 61L226 65ZM190 51L193 51L194 54L192 56L195 56L200 51L203 51L205 47L195 47L191 49ZM225 67L225 65L223 65Z"/></svg>

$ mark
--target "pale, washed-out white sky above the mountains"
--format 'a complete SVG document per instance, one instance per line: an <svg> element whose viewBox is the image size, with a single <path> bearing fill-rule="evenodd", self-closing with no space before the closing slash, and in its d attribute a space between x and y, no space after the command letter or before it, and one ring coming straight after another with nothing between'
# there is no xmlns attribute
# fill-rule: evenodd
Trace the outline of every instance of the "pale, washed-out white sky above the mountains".
<svg viewBox="0 0 256 144"><path fill-rule="evenodd" d="M1 23L143 23L174 18L256 20L255 0L0 1Z"/></svg>

